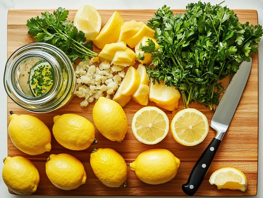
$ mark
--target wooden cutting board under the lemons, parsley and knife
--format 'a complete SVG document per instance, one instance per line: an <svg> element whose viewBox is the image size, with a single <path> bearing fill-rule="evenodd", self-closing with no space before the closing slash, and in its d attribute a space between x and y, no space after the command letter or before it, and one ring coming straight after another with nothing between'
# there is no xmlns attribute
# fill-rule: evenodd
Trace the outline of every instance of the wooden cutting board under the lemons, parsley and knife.
<svg viewBox="0 0 263 198"><path fill-rule="evenodd" d="M16 49L25 44L34 42L34 39L27 34L27 19L41 15L46 10L9 10L7 22L7 56L9 57ZM53 9L48 10L53 12ZM114 10L98 10L102 17L102 27L113 14ZM147 23L154 16L155 10L118 10L124 21L136 20ZM70 10L68 19L73 20L76 10ZM185 10L173 10L174 13L185 12ZM241 23L249 21L251 24L258 23L256 10L235 10L235 13ZM94 46L95 52L100 50ZM235 115L230 123L229 129L215 155L214 161L206 175L202 185L196 192L196 196L254 196L257 194L257 163L258 163L258 53L252 54L252 69L247 81L246 88L236 109ZM135 65L137 68L138 63ZM222 85L226 89L229 79L225 79ZM84 116L93 123L92 108L94 104L90 104L86 108L81 108L79 103L82 99L75 97L72 102L63 109L47 114L30 113L13 103L8 98L7 116L9 124L9 111L12 110L16 114L29 114L41 119L52 131L53 117L64 113L74 113ZM149 106L155 106L149 102ZM23 156L31 160L39 170L40 183L37 191L33 195L105 195L105 196L185 196L181 190L200 155L206 146L213 139L215 132L209 129L206 139L199 145L186 147L178 144L169 131L166 138L158 144L146 145L140 143L133 135L131 130L131 120L136 111L143 106L130 101L125 106L124 111L128 118L128 132L123 143L113 142L106 139L96 130L96 138L99 143L90 146L86 150L72 151L64 148L55 140L52 135L52 150L37 156L31 156L18 150L8 136L8 156ZM208 118L210 123L214 111L210 111L203 105L191 104L191 108L202 111ZM180 99L178 110L183 109L183 100ZM169 120L173 118L176 112L166 111ZM227 112L226 112L227 113ZM125 159L128 167L136 157L143 151L154 148L163 148L170 150L177 158L181 160L181 164L176 177L160 185L149 185L140 181L134 172L128 171L127 188L110 188L103 185L94 175L89 159L93 148L112 148L120 153ZM78 189L65 191L55 187L45 174L45 162L50 154L68 153L79 159L87 172L87 182ZM232 190L218 190L216 186L209 183L211 174L222 167L235 167L244 172L248 181L246 192ZM128 168L129 169L129 168ZM10 191L11 192L11 191ZM13 193L13 192L11 192Z"/></svg>

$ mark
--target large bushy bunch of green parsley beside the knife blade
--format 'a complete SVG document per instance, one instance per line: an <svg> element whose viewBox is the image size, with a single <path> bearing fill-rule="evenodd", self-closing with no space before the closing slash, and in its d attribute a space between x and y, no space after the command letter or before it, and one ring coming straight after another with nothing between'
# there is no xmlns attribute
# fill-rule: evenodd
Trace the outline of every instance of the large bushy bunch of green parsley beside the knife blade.
<svg viewBox="0 0 263 198"><path fill-rule="evenodd" d="M163 6L147 24L155 29L160 46L157 50L150 39L149 45L142 46L152 54L154 67L147 72L154 83L162 79L176 86L186 108L193 101L210 109L218 105L224 92L218 80L232 76L242 61L251 60L250 53L258 49L253 43L263 34L262 26L241 24L234 11L219 5L190 3L184 14L175 16Z"/></svg>

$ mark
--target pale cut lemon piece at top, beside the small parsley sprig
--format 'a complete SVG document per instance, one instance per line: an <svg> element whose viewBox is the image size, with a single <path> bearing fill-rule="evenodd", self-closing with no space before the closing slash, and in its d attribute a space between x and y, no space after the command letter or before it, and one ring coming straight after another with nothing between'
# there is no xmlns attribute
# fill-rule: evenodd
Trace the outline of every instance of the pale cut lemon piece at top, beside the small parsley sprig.
<svg viewBox="0 0 263 198"><path fill-rule="evenodd" d="M101 28L100 14L92 6L82 6L75 15L74 26L85 33L87 40L93 40Z"/></svg>

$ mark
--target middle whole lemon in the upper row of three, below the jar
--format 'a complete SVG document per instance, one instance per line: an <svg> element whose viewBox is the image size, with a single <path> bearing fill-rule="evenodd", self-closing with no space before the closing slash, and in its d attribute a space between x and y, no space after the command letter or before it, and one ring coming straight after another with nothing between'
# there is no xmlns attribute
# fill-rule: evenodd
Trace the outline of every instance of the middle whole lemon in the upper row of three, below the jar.
<svg viewBox="0 0 263 198"><path fill-rule="evenodd" d="M97 143L95 128L86 118L76 114L63 114L55 116L53 120L53 135L67 149L84 150Z"/></svg>

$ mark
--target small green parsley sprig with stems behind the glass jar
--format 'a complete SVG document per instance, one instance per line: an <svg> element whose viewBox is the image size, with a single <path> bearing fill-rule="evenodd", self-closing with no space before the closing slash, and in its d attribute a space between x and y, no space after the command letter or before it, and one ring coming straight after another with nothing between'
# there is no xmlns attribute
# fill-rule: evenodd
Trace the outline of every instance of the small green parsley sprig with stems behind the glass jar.
<svg viewBox="0 0 263 198"><path fill-rule="evenodd" d="M95 57L98 54L92 51L92 42L86 42L85 34L73 26L73 21L66 21L68 10L58 8L50 14L41 13L42 16L27 20L28 34L36 42L52 44L61 49L74 63L80 57L83 61L89 56Z"/></svg>

